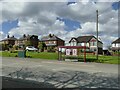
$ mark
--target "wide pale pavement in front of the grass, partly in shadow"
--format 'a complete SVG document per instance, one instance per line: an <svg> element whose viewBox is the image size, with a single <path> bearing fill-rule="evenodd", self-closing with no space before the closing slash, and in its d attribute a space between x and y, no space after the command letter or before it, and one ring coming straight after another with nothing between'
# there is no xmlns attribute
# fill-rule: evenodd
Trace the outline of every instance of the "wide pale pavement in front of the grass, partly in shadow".
<svg viewBox="0 0 120 90"><path fill-rule="evenodd" d="M11 78L38 82L39 87L46 85L47 88L119 88L118 65L115 64L17 57L2 57L0 62L0 76L5 78L3 87L11 87L5 82L6 78ZM42 83L44 85L41 85Z"/></svg>

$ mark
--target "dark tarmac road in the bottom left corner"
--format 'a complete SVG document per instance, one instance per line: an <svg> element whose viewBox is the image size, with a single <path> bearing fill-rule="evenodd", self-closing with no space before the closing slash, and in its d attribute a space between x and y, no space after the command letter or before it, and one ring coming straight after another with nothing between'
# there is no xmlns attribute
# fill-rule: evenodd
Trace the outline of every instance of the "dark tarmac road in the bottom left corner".
<svg viewBox="0 0 120 90"><path fill-rule="evenodd" d="M10 77L2 77L2 88L55 88L53 85L49 83L40 83L30 80L23 80L23 79L15 79Z"/></svg>

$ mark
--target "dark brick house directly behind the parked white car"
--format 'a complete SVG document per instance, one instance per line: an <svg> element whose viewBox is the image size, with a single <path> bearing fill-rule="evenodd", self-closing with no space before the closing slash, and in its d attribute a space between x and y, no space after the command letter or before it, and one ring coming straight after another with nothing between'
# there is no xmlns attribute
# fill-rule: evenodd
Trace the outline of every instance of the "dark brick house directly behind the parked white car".
<svg viewBox="0 0 120 90"><path fill-rule="evenodd" d="M30 42L31 46L34 46L36 48L38 47L38 41L39 41L38 36L36 36L36 35L27 35L26 36L25 34L23 35L23 37L21 37L15 41L15 45L24 47L25 43L27 41Z"/></svg>

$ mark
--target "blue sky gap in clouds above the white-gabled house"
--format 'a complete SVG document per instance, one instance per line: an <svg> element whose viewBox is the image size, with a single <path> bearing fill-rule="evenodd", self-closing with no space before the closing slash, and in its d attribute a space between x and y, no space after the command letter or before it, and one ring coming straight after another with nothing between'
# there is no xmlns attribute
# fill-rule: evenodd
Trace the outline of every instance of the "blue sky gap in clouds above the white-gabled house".
<svg viewBox="0 0 120 90"><path fill-rule="evenodd" d="M57 17L57 20L63 21L65 23L65 25L66 25L65 30L66 31L72 31L72 30L76 30L77 28L81 28L80 22L78 22L78 21L73 21L70 19L59 18L59 17Z"/></svg>

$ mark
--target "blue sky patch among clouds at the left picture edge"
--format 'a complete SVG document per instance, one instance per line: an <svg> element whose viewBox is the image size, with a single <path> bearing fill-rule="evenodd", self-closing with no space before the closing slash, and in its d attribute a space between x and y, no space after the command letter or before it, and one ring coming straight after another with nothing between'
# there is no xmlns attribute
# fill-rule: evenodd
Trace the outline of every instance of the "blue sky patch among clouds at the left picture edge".
<svg viewBox="0 0 120 90"><path fill-rule="evenodd" d="M16 27L18 27L18 19L14 21L6 21L2 23L2 31L6 34L9 32L9 30Z"/></svg>

